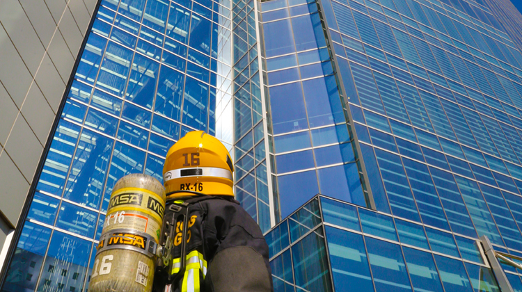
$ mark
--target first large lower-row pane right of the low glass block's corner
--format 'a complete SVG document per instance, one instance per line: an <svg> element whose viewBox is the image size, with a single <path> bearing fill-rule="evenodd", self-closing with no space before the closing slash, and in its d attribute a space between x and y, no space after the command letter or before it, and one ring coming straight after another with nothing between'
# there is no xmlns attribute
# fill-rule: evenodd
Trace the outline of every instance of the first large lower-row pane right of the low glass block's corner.
<svg viewBox="0 0 522 292"><path fill-rule="evenodd" d="M363 236L326 226L336 291L374 291Z"/></svg>

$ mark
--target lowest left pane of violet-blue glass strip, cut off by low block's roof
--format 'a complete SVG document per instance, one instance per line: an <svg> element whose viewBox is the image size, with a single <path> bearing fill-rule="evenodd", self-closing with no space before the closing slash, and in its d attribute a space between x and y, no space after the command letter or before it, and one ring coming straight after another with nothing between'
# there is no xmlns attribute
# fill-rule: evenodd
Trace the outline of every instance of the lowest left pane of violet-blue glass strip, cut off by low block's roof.
<svg viewBox="0 0 522 292"><path fill-rule="evenodd" d="M278 185L282 218L319 193L315 170L280 176Z"/></svg>

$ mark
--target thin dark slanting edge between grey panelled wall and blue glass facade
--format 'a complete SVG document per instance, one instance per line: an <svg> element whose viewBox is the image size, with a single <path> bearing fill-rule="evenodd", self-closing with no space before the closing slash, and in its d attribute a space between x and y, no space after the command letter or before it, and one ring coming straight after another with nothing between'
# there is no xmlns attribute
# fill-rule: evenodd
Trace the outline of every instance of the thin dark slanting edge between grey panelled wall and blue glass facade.
<svg viewBox="0 0 522 292"><path fill-rule="evenodd" d="M17 243L22 234L22 227L24 225L24 221L29 212L29 207L31 206L31 202L33 201L36 185L38 184L38 179L40 179L40 173L42 172L45 159L47 154L49 153L49 149L51 147L52 138L54 137L54 133L56 133L56 127L58 127L58 122L60 121L61 113L63 112L63 108L65 107L65 102L67 101L68 92L72 86L72 81L74 81L74 72L76 72L80 60L81 55L84 53L84 49L86 47L86 43L88 40L88 35L90 30L93 27L95 16L100 8L100 4L102 0L97 0L96 6L93 10L93 15L90 17L90 22L87 26L86 33L84 36L84 40L81 41L81 47L78 51L77 58L74 61L74 66L72 67L71 74L69 75L69 80L67 85L65 86L65 90L63 92L63 96L60 102L60 106L58 106L58 111L56 111L56 117L54 117L54 121L51 127L51 131L49 131L49 136L47 136L47 140L45 142L45 147L42 152L42 156L40 156L40 161L38 161L38 166L36 167L33 180L31 181L31 186L29 187L29 191L26 194L26 199L24 205L22 206L22 211L20 212L17 224L15 229L8 234L8 238L4 242L3 248L0 251L0 290L3 288L3 284L6 281L7 270L10 266L11 260L13 259L13 254L15 253Z"/></svg>

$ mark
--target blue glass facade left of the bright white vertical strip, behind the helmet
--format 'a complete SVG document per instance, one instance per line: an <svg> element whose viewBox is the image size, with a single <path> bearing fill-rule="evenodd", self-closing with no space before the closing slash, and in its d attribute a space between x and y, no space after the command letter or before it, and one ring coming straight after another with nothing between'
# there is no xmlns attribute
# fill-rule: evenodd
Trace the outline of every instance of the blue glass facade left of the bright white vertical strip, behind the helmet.
<svg viewBox="0 0 522 292"><path fill-rule="evenodd" d="M2 291L87 291L116 181L187 131L232 152L228 0L100 1Z"/></svg>

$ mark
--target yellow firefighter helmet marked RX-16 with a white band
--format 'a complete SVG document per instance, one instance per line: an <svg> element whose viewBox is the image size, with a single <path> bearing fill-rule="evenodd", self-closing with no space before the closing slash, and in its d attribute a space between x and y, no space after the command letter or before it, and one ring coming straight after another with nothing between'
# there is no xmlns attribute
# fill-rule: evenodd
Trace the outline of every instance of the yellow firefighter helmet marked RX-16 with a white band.
<svg viewBox="0 0 522 292"><path fill-rule="evenodd" d="M204 131L191 131L168 150L163 167L167 200L196 193L233 196L232 172L226 147Z"/></svg>

